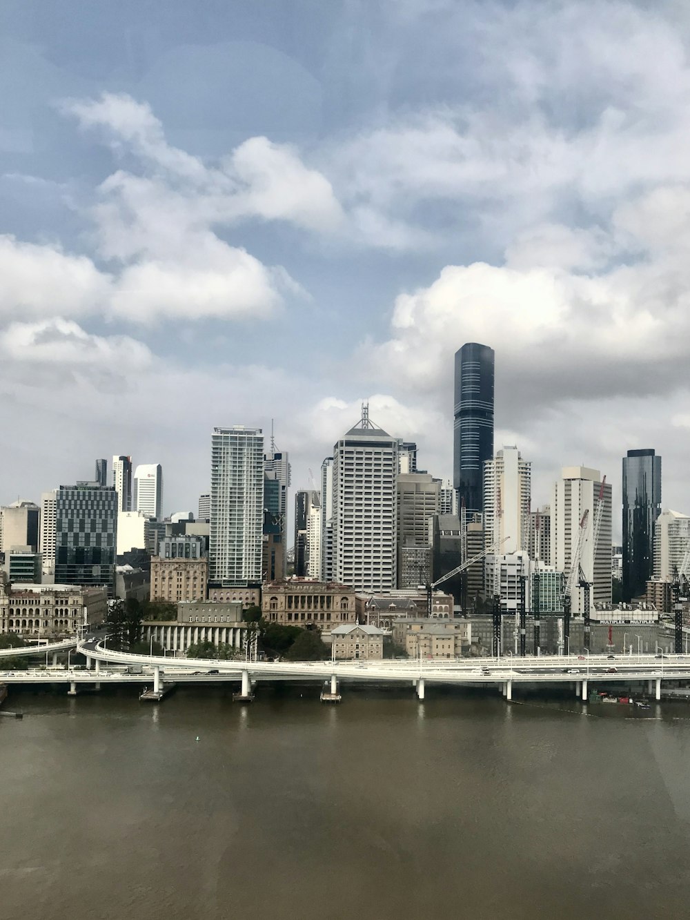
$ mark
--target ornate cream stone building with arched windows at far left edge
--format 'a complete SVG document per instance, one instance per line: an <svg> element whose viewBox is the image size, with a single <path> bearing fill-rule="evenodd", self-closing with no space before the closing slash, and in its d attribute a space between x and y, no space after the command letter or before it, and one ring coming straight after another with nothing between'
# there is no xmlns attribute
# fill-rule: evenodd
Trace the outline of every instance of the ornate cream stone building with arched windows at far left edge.
<svg viewBox="0 0 690 920"><path fill-rule="evenodd" d="M28 638L75 636L101 624L107 612L105 586L0 584L0 632Z"/></svg>

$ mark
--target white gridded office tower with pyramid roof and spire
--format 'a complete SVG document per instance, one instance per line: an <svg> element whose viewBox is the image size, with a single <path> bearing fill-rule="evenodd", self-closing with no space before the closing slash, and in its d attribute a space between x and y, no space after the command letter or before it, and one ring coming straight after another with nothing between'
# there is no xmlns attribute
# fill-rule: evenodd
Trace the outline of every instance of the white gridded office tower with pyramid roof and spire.
<svg viewBox="0 0 690 920"><path fill-rule="evenodd" d="M355 591L397 585L397 450L367 405L333 447L333 574Z"/></svg>

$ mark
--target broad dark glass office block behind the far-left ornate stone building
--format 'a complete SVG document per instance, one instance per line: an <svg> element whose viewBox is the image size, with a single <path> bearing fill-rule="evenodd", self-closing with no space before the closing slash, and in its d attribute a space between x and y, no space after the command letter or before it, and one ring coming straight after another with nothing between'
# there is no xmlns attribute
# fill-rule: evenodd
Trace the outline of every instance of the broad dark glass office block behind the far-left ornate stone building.
<svg viewBox="0 0 690 920"><path fill-rule="evenodd" d="M55 495L55 583L106 585L115 592L118 505L114 486L77 482Z"/></svg>

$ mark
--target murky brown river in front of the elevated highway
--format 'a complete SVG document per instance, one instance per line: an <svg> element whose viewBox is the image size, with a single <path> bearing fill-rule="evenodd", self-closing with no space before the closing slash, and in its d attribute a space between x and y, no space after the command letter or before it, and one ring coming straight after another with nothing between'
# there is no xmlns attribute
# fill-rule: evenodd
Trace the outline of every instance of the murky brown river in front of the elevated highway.
<svg viewBox="0 0 690 920"><path fill-rule="evenodd" d="M681 917L690 707L12 688L4 920Z"/></svg>

